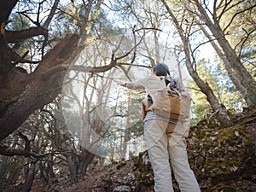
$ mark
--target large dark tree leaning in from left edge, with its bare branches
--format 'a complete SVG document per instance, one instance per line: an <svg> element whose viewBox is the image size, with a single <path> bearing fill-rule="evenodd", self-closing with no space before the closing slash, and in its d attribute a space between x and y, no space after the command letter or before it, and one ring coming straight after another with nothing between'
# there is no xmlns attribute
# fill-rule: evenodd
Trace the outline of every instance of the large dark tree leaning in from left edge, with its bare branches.
<svg viewBox="0 0 256 192"><path fill-rule="evenodd" d="M52 102L61 93L64 75L74 60L74 49L76 49L75 54L79 55L79 51L84 48L81 37L71 34L61 39L59 44L44 55L44 45L48 40L47 27L54 17L59 0L55 0L43 26L34 23L37 27L20 32L6 32L7 20L17 2L18 0L0 0L0 141L15 131L36 109ZM94 2L90 1L91 3ZM96 9L99 9L101 3L102 1L96 3ZM87 9L89 12L86 12L88 16L92 11L90 4ZM87 5L84 4L84 6ZM85 23L87 25L87 22ZM85 33L83 38L86 38ZM24 58L15 54L14 48L11 49L9 43L20 43L24 39L38 35L44 35L44 44L41 47L43 59L37 62L38 66L33 73L26 73L25 69L15 67L20 59ZM82 45L78 48L79 42ZM112 61L107 66L73 66L73 70L91 73L106 72L115 67L119 59L122 57L114 58L112 55ZM22 61L26 62L26 60Z"/></svg>

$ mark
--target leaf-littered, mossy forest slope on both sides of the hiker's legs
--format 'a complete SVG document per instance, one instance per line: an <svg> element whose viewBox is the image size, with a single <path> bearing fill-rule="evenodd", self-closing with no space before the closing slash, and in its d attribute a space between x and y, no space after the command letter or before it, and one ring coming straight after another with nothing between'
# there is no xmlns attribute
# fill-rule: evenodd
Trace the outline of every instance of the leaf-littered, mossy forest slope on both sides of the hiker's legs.
<svg viewBox="0 0 256 192"><path fill-rule="evenodd" d="M190 156L190 160L195 165L193 160L196 157L197 166L191 168L197 170L195 175L199 178L201 191L256 191L256 110L250 114L237 114L233 120L235 125L229 129L212 128L206 122L192 127L191 137L195 137L197 142L189 153L196 154ZM202 144L204 148L201 148ZM221 153L224 156L220 156ZM153 192L154 176L147 158L147 154L140 154L118 164L94 166L84 178L59 177L49 189L44 189L42 182L35 179L32 191ZM177 183L173 185L175 191L179 191Z"/></svg>

